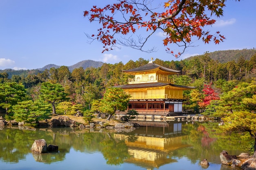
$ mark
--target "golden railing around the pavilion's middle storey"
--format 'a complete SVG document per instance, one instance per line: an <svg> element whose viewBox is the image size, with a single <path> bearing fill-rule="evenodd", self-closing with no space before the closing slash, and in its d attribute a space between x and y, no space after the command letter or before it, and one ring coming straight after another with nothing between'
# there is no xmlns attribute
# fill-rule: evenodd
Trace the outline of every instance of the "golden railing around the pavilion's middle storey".
<svg viewBox="0 0 256 170"><path fill-rule="evenodd" d="M188 100L189 96L172 96L168 94L157 94L157 95L132 95L130 99L160 99L160 98L171 98L171 99L182 99Z"/></svg>

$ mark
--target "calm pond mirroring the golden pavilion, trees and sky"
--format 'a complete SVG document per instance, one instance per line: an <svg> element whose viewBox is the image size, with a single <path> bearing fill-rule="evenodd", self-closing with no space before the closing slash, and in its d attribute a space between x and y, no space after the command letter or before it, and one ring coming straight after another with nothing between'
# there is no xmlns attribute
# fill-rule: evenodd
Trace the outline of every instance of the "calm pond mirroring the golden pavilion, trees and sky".
<svg viewBox="0 0 256 170"><path fill-rule="evenodd" d="M216 122L139 122L130 131L106 129L0 130L1 170L235 170L221 165L220 153L239 155L248 141L223 133ZM58 146L54 153L31 153L36 139ZM247 152L248 153L248 152Z"/></svg>

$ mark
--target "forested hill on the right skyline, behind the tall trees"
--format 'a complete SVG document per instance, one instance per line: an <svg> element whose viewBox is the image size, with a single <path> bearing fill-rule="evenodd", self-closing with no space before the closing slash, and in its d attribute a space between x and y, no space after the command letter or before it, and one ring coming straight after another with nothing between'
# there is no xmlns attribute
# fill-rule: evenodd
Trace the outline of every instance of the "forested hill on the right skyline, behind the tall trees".
<svg viewBox="0 0 256 170"><path fill-rule="evenodd" d="M254 54L256 49L243 49L243 50L223 50L209 52L209 57L213 60L218 60L220 63L227 63L229 61L238 61L239 57L243 56L245 60L249 60ZM200 55L199 55L200 56ZM192 59L189 57L187 59Z"/></svg>

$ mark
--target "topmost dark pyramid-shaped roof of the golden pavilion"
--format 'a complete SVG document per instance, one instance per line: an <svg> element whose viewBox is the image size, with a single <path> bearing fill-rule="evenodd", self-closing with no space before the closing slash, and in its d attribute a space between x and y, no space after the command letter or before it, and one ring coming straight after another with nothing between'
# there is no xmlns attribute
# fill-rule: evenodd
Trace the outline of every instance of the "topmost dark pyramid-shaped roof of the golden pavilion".
<svg viewBox="0 0 256 170"><path fill-rule="evenodd" d="M148 71L148 70L155 70L155 69L161 69L161 70L164 70L166 72L174 72L174 73L178 73L180 72L180 70L172 70L172 69L169 69L169 68L165 68L165 67L162 67L160 65L157 65L155 63L147 63L145 65L142 65L138 68L132 68L132 69L129 69L129 70L123 70L123 72L142 72L142 71Z"/></svg>

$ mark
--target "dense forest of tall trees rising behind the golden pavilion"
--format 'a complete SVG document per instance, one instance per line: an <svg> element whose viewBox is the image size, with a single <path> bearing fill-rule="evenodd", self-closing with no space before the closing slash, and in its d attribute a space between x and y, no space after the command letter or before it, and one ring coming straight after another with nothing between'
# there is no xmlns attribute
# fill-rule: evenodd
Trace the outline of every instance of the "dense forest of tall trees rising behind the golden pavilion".
<svg viewBox="0 0 256 170"><path fill-rule="evenodd" d="M239 82L251 82L256 77L256 53L252 54L249 60L240 56L237 61L231 60L227 63L211 59L210 53L182 61L155 59L153 62L166 68L181 70L178 76L170 76L170 78L177 85L198 87L198 91L193 95L201 94L200 98L202 99L205 85L210 85L215 92L218 92L217 96L219 96L222 92L231 90L229 89L231 85L225 85L225 82L232 81L232 88L234 88ZM147 63L148 60L139 58L137 61L130 60L126 64L122 62L103 63L98 68L79 67L72 71L67 66L44 71L7 69L0 72L0 83L15 82L24 85L31 100L38 99L42 83L61 84L68 95L69 102L89 108L94 99L98 100L103 97L107 87L128 83L128 78L132 77L124 74L122 70L137 68ZM193 96L191 94L193 92L185 92L184 95ZM195 102L198 102L198 99Z"/></svg>

